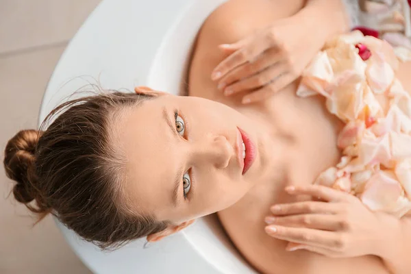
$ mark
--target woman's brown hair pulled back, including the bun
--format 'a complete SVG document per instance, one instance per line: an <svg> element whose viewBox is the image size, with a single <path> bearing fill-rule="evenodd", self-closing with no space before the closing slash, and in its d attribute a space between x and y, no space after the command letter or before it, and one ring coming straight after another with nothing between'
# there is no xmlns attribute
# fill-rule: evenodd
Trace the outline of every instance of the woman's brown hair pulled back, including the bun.
<svg viewBox="0 0 411 274"><path fill-rule="evenodd" d="M16 181L14 198L38 214L38 221L51 213L102 249L165 229L167 222L127 210L124 159L110 145L110 125L121 110L151 98L113 92L74 99L55 108L40 131L18 132L4 158L5 173Z"/></svg>

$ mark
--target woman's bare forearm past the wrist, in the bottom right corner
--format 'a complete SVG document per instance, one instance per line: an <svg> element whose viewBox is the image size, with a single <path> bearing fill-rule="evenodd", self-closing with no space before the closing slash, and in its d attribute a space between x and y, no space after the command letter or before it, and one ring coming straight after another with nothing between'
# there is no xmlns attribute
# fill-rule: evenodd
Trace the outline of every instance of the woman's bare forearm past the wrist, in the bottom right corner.
<svg viewBox="0 0 411 274"><path fill-rule="evenodd" d="M411 218L405 216L399 220L387 215L379 232L381 241L376 244L376 255L391 273L411 273Z"/></svg>

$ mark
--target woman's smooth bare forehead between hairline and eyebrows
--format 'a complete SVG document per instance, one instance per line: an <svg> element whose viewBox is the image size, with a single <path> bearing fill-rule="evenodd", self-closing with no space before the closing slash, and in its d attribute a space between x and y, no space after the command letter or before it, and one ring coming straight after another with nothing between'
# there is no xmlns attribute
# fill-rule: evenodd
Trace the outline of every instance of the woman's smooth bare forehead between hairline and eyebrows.
<svg viewBox="0 0 411 274"><path fill-rule="evenodd" d="M145 102L124 116L117 140L126 160L125 191L149 214L166 207L173 192L173 136L163 115L161 104Z"/></svg>

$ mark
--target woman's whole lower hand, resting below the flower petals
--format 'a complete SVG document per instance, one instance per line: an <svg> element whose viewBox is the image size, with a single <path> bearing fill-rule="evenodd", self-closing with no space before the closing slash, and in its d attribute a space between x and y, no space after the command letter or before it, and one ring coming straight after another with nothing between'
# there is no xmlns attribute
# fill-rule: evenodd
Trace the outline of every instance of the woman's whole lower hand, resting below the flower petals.
<svg viewBox="0 0 411 274"><path fill-rule="evenodd" d="M373 254L382 235L383 213L371 212L357 197L326 186L291 186L286 191L321 199L271 207L266 233L290 242L288 251L306 249L332 258Z"/></svg>

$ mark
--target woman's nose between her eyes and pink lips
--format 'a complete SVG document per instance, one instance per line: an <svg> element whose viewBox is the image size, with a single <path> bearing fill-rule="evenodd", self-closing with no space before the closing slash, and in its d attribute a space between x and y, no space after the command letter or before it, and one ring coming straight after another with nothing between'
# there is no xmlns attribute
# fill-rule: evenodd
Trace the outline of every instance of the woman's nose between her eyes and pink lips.
<svg viewBox="0 0 411 274"><path fill-rule="evenodd" d="M211 163L216 169L225 169L234 154L232 145L224 136L209 136L195 144L195 162Z"/></svg>

